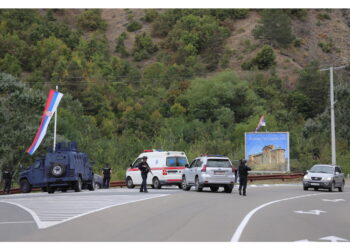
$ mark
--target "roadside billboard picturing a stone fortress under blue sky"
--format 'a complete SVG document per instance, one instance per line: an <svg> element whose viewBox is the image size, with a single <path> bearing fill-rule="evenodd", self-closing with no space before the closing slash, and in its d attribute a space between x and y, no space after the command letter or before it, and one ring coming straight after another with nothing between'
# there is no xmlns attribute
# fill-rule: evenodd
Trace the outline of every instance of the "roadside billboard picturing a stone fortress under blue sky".
<svg viewBox="0 0 350 250"><path fill-rule="evenodd" d="M289 133L245 133L245 159L252 171L289 172Z"/></svg>

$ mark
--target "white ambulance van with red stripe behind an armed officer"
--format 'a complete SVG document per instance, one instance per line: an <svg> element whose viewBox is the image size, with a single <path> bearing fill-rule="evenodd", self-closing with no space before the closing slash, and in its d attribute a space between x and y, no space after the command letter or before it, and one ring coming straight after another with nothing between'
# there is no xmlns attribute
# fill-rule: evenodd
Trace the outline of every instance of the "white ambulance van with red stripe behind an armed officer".
<svg viewBox="0 0 350 250"><path fill-rule="evenodd" d="M141 185L141 172L137 165L142 161L142 157L147 156L147 163L152 173L148 173L147 185L159 189L162 186L177 185L182 188L182 174L185 166L188 166L188 159L181 151L144 150L137 159L130 164L126 171L126 184L128 188Z"/></svg>

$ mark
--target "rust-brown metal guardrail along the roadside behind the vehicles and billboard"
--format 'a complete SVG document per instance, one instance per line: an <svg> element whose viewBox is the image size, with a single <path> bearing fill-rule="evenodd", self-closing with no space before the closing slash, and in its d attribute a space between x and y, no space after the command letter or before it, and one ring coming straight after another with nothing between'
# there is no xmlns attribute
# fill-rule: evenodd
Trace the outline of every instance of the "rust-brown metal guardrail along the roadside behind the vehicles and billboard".
<svg viewBox="0 0 350 250"><path fill-rule="evenodd" d="M268 174L268 175L249 175L248 180L250 182L253 181L260 181L260 180L273 180L273 179L280 179L282 181L286 179L299 179L302 178L304 174L302 173L295 173L295 174ZM111 181L110 187L125 187L126 182L123 180L118 181ZM38 192L41 191L41 188L33 188L32 192ZM18 194L21 190L19 188L12 188L10 190L10 194ZM3 191L0 191L0 195L4 194Z"/></svg>

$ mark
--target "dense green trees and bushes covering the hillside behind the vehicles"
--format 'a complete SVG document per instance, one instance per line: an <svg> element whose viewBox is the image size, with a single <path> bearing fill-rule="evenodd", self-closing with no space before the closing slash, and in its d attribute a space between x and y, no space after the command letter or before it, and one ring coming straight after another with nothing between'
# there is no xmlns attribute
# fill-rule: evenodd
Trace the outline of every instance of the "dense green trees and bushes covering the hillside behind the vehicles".
<svg viewBox="0 0 350 250"><path fill-rule="evenodd" d="M280 73L281 53L307 43L294 24L307 23L310 11L146 9L137 18L133 9L118 10L127 23L112 43L102 10L68 12L0 10L0 168L18 170L52 146L53 122L38 151L25 153L56 85L64 94L58 141L77 141L95 171L112 166L113 179L123 179L144 149L240 159L244 133L255 131L261 115L263 131L289 131L292 171L330 163L329 73L319 70L325 61L291 68L293 84ZM316 18L322 25L332 14L319 10ZM252 40L239 51L228 47L232 34L244 32L234 24L251 15L258 17ZM320 53L340 53L336 38L322 39ZM349 66L335 73L337 163L347 173Z"/></svg>

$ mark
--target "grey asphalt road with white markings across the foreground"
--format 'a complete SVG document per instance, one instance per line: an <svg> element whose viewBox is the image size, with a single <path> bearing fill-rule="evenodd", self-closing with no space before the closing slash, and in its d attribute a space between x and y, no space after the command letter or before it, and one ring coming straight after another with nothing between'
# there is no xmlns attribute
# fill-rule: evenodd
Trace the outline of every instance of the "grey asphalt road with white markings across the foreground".
<svg viewBox="0 0 350 250"><path fill-rule="evenodd" d="M248 196L178 188L0 197L0 241L350 241L350 190L257 185Z"/></svg>

